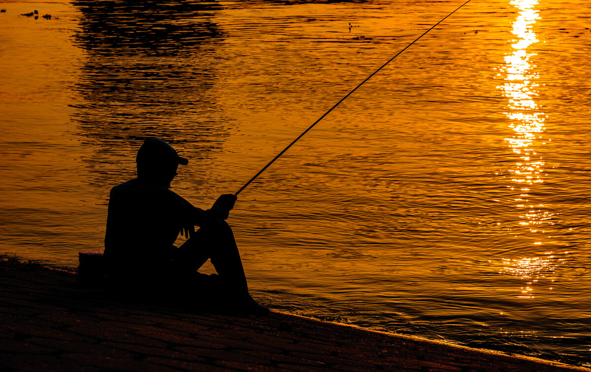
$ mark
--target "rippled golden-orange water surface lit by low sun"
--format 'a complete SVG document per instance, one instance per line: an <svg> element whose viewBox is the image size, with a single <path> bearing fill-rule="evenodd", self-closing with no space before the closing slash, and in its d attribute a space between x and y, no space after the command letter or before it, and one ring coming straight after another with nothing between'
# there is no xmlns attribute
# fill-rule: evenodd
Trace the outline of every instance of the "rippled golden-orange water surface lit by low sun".
<svg viewBox="0 0 591 372"><path fill-rule="evenodd" d="M193 204L235 192L460 4L3 3L0 251L100 249L145 136L190 159ZM591 366L590 17L472 0L350 96L240 194L255 295Z"/></svg>

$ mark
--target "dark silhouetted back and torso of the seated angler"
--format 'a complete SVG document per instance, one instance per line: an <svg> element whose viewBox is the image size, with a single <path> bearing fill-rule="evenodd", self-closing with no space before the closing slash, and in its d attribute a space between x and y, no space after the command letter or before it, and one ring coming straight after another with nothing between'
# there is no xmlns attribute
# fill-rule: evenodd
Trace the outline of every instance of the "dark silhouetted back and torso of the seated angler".
<svg viewBox="0 0 591 372"><path fill-rule="evenodd" d="M109 279L130 284L156 280L195 209L168 188L137 178L113 187L105 234Z"/></svg>

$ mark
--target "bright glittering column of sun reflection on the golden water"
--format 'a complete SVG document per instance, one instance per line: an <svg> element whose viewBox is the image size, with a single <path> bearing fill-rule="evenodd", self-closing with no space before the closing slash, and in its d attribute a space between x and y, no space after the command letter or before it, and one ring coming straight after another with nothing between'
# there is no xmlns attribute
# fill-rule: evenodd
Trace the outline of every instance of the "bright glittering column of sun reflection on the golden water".
<svg viewBox="0 0 591 372"><path fill-rule="evenodd" d="M547 220L552 216L544 210L544 204L536 204L530 199L532 188L544 182L545 165L543 156L538 155L538 149L545 145L543 133L547 116L536 102L540 84L535 81L540 76L537 66L531 61L531 57L536 54L528 51L532 44L539 42L533 27L540 15L535 9L538 0L512 0L510 4L518 9L511 31L517 39L511 40L511 52L506 54L505 64L498 67L496 74L504 80L497 89L503 90L508 98L507 112L504 114L511 120L511 137L505 138L505 142L519 158L513 169L508 169L511 184L507 187L520 191L518 197L514 198L519 211L518 224L528 228L530 233L538 233L534 242L526 244L539 246L543 243L540 234L545 232L541 225L548 223ZM534 298L534 285L553 272L556 261L551 253L545 253L540 257L503 259L503 265L502 272L526 280L524 286L517 290L518 297Z"/></svg>

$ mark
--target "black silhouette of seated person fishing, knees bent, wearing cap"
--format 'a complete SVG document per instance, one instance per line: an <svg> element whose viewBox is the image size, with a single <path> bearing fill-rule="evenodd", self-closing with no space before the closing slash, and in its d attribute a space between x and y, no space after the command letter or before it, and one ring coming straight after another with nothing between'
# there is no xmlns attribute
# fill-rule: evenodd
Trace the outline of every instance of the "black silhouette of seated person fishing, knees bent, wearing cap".
<svg viewBox="0 0 591 372"><path fill-rule="evenodd" d="M221 195L212 208L202 210L171 191L178 165L189 161L157 138L145 139L136 163L138 177L113 187L109 199L105 259L111 288L188 295L241 311L268 312L248 295L238 247L225 221L236 196ZM179 233L189 239L176 247ZM217 275L197 272L207 259Z"/></svg>

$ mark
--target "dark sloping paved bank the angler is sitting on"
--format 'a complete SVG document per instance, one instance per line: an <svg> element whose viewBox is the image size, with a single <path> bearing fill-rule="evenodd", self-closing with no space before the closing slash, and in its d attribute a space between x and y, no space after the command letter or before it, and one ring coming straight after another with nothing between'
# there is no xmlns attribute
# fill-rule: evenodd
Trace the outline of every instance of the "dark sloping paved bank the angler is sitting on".
<svg viewBox="0 0 591 372"><path fill-rule="evenodd" d="M0 371L591 371L272 312L112 301L66 272L0 266Z"/></svg>

